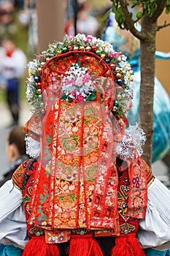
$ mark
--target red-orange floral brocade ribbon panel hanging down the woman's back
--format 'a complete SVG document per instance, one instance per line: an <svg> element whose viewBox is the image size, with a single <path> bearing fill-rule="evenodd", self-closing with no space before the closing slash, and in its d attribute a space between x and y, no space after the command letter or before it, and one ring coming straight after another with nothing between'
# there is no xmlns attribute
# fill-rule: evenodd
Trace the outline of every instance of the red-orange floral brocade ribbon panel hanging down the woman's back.
<svg viewBox="0 0 170 256"><path fill-rule="evenodd" d="M53 102L53 97L50 98ZM46 228L90 228L93 225L110 227L112 222L115 228L117 170L111 145L112 121L107 115L103 116L101 102L90 101L82 105L81 102L58 100L55 104L49 102L47 110L50 110L43 120L46 135L42 138L45 150L42 148L41 162L45 172L39 169L37 176L41 175L44 187L36 192L38 205L34 200L31 205L32 212L38 208L36 219L32 214L31 223ZM53 127L52 133L49 127ZM106 197L102 184L105 179L108 182ZM46 188L48 184L50 190ZM100 212L95 208L98 198L102 206ZM106 211L107 219L103 221Z"/></svg>

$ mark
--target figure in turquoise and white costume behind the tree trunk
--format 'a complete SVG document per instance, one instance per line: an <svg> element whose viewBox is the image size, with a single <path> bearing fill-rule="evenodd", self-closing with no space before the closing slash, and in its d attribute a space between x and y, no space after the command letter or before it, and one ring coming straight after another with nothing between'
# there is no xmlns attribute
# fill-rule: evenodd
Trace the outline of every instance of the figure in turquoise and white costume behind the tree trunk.
<svg viewBox="0 0 170 256"><path fill-rule="evenodd" d="M131 4L129 5L130 8ZM139 11L139 7L133 8L131 13L134 15ZM135 18L134 18L135 20ZM135 23L136 29L141 30L141 25ZM140 72L140 41L131 31L120 29L115 20L115 14L110 12L107 24L102 34L105 42L112 43L117 52L121 51L127 57L127 61L134 70L134 99L133 108L128 112L129 123L135 124L139 121L139 94L141 83ZM155 51L155 59L170 59L170 53ZM153 102L153 138L152 138L152 162L163 158L170 148L170 97L163 85L155 77L154 102Z"/></svg>

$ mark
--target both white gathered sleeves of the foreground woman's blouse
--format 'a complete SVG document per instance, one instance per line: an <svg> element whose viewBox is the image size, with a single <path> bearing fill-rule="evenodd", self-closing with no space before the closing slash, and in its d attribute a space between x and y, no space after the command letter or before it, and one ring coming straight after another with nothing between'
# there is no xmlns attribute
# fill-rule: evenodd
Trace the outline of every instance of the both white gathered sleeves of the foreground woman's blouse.
<svg viewBox="0 0 170 256"><path fill-rule="evenodd" d="M0 243L23 249L28 242L22 193L12 180L0 188ZM148 187L147 211L139 224L137 238L142 248L170 247L170 190L158 178Z"/></svg>

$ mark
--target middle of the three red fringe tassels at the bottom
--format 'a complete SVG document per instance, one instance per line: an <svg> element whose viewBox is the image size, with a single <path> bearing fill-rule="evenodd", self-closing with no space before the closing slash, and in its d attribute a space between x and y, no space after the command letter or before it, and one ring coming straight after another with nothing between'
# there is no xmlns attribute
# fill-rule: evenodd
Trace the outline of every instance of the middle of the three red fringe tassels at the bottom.
<svg viewBox="0 0 170 256"><path fill-rule="evenodd" d="M104 256L92 234L73 235L70 241L69 256Z"/></svg>

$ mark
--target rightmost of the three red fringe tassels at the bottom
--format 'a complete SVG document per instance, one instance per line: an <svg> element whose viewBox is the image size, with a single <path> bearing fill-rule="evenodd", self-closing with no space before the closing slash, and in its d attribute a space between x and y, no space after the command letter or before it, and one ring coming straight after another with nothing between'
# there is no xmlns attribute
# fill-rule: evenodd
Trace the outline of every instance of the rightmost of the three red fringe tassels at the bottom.
<svg viewBox="0 0 170 256"><path fill-rule="evenodd" d="M134 234L135 235L135 234ZM115 239L115 246L112 249L112 256L145 256L136 236L118 236Z"/></svg>

